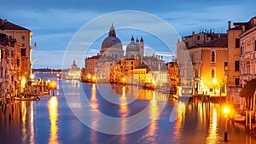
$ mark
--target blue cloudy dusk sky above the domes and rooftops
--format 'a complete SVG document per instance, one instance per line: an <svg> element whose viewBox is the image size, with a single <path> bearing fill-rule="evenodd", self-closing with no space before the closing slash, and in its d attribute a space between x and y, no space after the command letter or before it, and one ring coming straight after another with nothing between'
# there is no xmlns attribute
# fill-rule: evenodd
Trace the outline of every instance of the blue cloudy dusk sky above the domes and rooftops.
<svg viewBox="0 0 256 144"><path fill-rule="evenodd" d="M33 64L33 68L61 68L71 66L73 60L76 60L76 56L73 55L70 64L62 66L63 55L75 33L81 27L90 23L91 20L101 17L102 14L120 10L137 10L154 14L160 17L160 19L166 20L177 34L183 37L190 35L193 31L200 32L204 29L212 29L214 32L226 32L228 20L241 22L248 21L256 16L255 4L256 2L253 0L154 2L146 0L10 0L1 2L0 14L2 19L7 19L16 25L26 27L32 31L31 44L37 43L37 48L32 50L32 60L38 59ZM114 27L122 27L123 19L125 17L107 20L106 23L103 22L104 25L102 24L102 27L99 25L96 28L92 28L90 32L101 30L103 33L93 43L84 37L84 44L90 45L90 49L86 51L84 58L99 53L102 40L107 37L111 22L113 22ZM136 23L136 21L132 22ZM160 31L164 32L164 30ZM116 33L117 37L122 41L124 49L129 43L131 35L134 35L135 38L143 37L146 49L154 49L155 54L166 55L166 61L172 60L170 55L175 54L173 50L165 50L166 48L164 47L166 45L161 43L158 37L147 32L129 29L121 31L117 28ZM175 47L175 44L173 43L173 47ZM160 50L161 48L163 49ZM79 67L84 67L84 60L76 61Z"/></svg>

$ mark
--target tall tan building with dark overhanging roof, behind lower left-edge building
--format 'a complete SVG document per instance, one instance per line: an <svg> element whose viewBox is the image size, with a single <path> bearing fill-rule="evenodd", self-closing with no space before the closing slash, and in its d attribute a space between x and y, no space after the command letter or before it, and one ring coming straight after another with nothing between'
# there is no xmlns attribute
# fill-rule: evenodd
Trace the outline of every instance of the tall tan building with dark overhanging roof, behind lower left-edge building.
<svg viewBox="0 0 256 144"><path fill-rule="evenodd" d="M26 80L31 77L31 38L32 31L22 27L17 26L8 20L0 19L0 29L1 33L8 35L11 38L16 39L16 43L20 45L20 54L21 54L21 77L26 78Z"/></svg>

